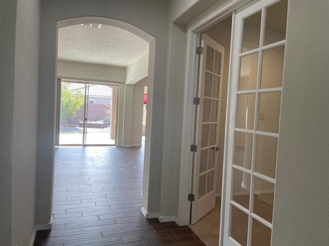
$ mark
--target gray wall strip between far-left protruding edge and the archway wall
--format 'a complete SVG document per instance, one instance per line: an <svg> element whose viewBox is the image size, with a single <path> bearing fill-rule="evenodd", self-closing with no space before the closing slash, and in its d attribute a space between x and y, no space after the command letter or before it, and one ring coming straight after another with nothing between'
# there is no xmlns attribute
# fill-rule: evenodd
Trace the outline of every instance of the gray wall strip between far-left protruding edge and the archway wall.
<svg viewBox="0 0 329 246"><path fill-rule="evenodd" d="M12 161L12 242L28 245L35 228L40 1L18 0Z"/></svg>

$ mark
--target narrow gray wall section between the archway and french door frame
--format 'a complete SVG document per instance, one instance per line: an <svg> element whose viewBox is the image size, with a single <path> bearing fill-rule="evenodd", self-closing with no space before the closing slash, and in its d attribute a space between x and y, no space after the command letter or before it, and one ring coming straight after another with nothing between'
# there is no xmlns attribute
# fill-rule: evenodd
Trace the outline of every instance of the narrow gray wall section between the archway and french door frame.
<svg viewBox="0 0 329 246"><path fill-rule="evenodd" d="M167 37L169 57L166 71L163 166L159 210L162 216L177 216L178 214L186 40L186 33L175 24L169 23Z"/></svg>

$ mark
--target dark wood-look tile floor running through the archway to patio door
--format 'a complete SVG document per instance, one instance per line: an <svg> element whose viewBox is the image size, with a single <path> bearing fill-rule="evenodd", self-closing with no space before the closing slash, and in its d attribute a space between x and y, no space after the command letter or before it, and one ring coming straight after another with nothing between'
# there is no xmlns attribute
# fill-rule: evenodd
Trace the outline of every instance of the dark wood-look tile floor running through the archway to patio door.
<svg viewBox="0 0 329 246"><path fill-rule="evenodd" d="M140 212L143 147L57 148L52 230L34 246L205 245L188 227Z"/></svg>

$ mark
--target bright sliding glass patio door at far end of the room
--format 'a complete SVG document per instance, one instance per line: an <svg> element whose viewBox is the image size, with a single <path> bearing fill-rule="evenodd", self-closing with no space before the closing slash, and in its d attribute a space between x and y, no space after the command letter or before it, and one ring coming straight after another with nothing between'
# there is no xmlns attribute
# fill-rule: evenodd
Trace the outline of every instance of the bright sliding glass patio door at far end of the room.
<svg viewBox="0 0 329 246"><path fill-rule="evenodd" d="M57 145L115 145L118 87L61 79L58 83Z"/></svg>

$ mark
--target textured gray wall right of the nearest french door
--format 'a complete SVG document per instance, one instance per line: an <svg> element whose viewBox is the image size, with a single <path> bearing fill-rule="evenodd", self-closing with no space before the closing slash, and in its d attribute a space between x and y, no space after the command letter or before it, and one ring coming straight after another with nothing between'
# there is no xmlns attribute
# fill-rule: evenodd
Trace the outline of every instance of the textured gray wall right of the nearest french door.
<svg viewBox="0 0 329 246"><path fill-rule="evenodd" d="M272 245L329 242L329 2L288 5Z"/></svg>

